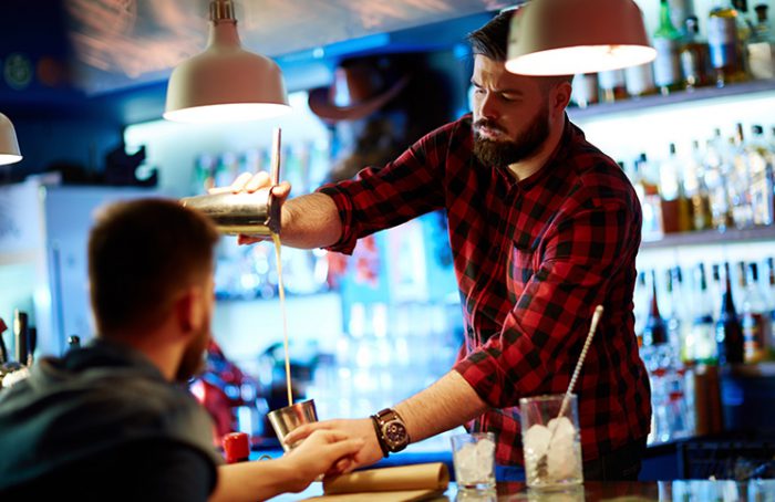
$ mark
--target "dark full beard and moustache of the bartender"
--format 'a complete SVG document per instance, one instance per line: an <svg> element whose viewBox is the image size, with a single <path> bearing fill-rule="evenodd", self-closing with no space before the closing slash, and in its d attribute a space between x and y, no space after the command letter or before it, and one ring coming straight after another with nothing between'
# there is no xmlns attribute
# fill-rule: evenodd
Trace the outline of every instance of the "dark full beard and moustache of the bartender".
<svg viewBox="0 0 775 502"><path fill-rule="evenodd" d="M533 117L525 132L514 139L494 140L479 136L478 127L505 133L494 121L480 118L474 124L474 155L485 166L508 167L534 156L549 136L549 113L545 104Z"/></svg>

